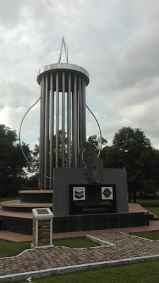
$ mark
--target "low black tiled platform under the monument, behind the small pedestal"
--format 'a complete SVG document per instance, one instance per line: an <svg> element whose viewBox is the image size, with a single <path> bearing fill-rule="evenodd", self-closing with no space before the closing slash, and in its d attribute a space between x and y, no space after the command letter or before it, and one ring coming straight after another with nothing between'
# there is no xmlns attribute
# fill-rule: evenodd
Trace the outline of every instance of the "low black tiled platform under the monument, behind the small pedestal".
<svg viewBox="0 0 159 283"><path fill-rule="evenodd" d="M134 209L135 210L135 209ZM149 226L149 214L141 207L138 212L121 214L89 214L74 216L54 216L53 232L68 233L102 229ZM33 214L11 212L0 209L1 229L25 235L32 235Z"/></svg>

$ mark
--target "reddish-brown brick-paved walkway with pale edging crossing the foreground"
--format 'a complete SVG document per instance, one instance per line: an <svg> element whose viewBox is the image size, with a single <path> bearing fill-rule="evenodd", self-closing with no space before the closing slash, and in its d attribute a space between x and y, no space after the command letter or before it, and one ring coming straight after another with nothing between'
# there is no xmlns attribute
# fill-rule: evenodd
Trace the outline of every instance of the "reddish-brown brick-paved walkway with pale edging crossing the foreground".
<svg viewBox="0 0 159 283"><path fill-rule="evenodd" d="M0 258L0 282L159 258L159 241L126 233L96 233L93 236L105 246L36 248L11 258Z"/></svg>

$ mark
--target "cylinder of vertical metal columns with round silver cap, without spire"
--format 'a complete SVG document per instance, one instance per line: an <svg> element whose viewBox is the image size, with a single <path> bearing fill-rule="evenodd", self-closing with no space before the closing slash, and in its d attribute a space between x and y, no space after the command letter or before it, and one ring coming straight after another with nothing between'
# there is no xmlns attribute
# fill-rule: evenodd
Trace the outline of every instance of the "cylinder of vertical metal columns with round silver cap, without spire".
<svg viewBox="0 0 159 283"><path fill-rule="evenodd" d="M86 141L86 69L49 64L37 72L40 84L39 189L53 189L53 167L82 167Z"/></svg>

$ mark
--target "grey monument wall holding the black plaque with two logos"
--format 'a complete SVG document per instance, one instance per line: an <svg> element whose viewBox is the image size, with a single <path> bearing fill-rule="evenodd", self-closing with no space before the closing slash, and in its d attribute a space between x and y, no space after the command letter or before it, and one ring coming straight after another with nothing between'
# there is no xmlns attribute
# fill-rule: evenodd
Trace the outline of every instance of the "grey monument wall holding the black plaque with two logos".
<svg viewBox="0 0 159 283"><path fill-rule="evenodd" d="M54 216L88 214L89 211L92 214L129 212L126 169L103 169L102 181L98 185L90 184L83 168L54 168L53 175ZM112 190L113 195L110 200L107 198L108 203L105 197L102 198L107 187Z"/></svg>

